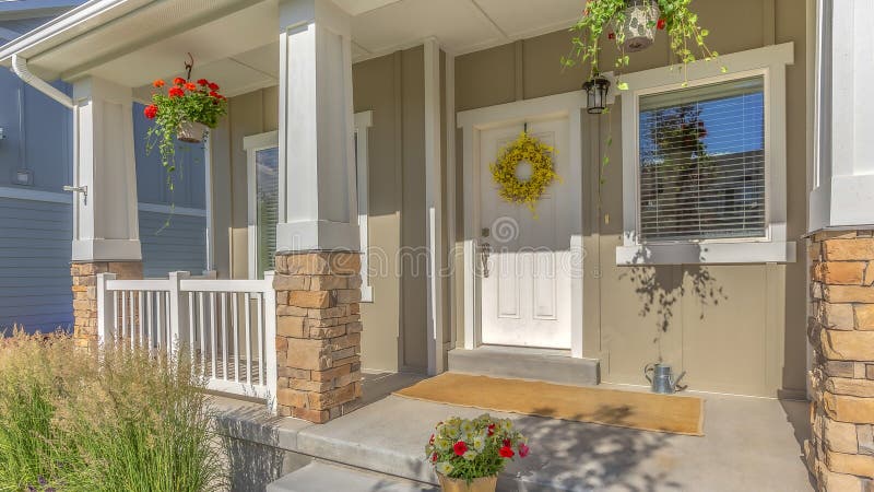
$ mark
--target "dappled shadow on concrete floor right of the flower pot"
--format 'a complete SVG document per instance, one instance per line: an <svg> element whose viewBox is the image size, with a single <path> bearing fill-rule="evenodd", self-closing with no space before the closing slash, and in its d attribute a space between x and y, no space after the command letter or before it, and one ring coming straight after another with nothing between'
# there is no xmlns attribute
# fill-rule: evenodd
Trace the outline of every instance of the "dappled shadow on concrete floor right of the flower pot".
<svg viewBox="0 0 874 492"><path fill-rule="evenodd" d="M544 415L551 408L538 409ZM629 413L615 407L604 407L605 421L621 425ZM676 436L659 432L640 432L607 425L568 425L557 419L525 417L516 424L531 442L538 443L538 453L527 460L510 464L507 473L499 478L498 489L516 490L515 475L522 480L548 480L552 488L572 491L624 490L643 492L682 490L683 485L668 478L670 467L658 475L641 473L639 466ZM568 473L551 461L572 459L579 468Z"/></svg>

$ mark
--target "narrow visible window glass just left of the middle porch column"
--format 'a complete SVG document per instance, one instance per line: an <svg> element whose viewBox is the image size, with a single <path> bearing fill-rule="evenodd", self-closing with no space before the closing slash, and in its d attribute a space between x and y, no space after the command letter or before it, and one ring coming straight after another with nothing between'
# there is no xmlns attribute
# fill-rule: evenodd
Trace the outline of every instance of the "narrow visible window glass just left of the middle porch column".
<svg viewBox="0 0 874 492"><path fill-rule="evenodd" d="M273 270L279 221L279 148L255 152L256 206L258 207L258 278Z"/></svg>

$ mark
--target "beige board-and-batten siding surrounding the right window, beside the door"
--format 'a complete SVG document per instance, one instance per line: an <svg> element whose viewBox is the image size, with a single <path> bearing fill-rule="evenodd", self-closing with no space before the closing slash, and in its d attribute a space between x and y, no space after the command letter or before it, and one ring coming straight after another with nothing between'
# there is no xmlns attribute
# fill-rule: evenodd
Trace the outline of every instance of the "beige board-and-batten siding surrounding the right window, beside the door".
<svg viewBox="0 0 874 492"><path fill-rule="evenodd" d="M788 237L805 232L805 28L804 9L778 2L776 11L758 0L696 2L701 25L711 35L711 49L729 54L794 42L794 65L787 71ZM664 67L666 39L631 56L627 72ZM579 90L582 68L562 70L570 34L552 34L498 46L456 59L458 110ZM602 54L607 70L613 49ZM730 68L729 68L730 69ZM666 69L665 69L666 70ZM688 372L695 389L756 396L803 396L805 375L805 257L788 265L723 265L699 267L616 266L622 245L622 97L611 118L583 120L583 355L601 360L602 378L611 383L645 384L642 367L658 358L653 342L659 326L665 362ZM611 127L612 125L612 127ZM604 140L612 132L613 144ZM460 132L457 149L462 149ZM610 154L599 213L598 164ZM457 189L464 177L457 174ZM464 206L458 196L458 210ZM460 223L459 223L460 224ZM459 231L462 227L459 225ZM460 269L461 265L457 265ZM710 280L707 280L710 279ZM695 281L708 286L695 293ZM463 289L458 282L457 292ZM712 288L713 293L710 291ZM721 293L719 291L721 289ZM648 292L654 293L653 302ZM660 302L664 294L666 302ZM459 301L463 297L457 297ZM649 309L647 312L647 309ZM646 312L646 314L645 314ZM463 319L457 319L459 327ZM461 337L461 328L459 337Z"/></svg>

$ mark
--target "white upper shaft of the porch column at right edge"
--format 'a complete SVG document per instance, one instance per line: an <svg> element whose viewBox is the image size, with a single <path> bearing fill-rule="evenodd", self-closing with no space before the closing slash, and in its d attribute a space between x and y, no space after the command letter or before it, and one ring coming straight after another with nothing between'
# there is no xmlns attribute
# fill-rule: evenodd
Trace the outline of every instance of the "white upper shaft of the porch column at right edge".
<svg viewBox="0 0 874 492"><path fill-rule="evenodd" d="M817 0L810 231L874 225L870 0Z"/></svg>

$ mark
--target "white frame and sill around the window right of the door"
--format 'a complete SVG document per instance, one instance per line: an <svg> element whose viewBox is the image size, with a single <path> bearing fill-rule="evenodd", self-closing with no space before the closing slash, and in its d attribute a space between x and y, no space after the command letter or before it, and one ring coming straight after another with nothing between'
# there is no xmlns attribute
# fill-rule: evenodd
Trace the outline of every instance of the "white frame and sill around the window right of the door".
<svg viewBox="0 0 874 492"><path fill-rule="evenodd" d="M623 245L617 265L794 262L795 243L787 241L786 67L793 44L768 46L714 61L697 61L683 70L658 68L623 75ZM722 73L721 67L728 72ZM765 236L699 241L640 242L639 103L653 93L761 75L765 79Z"/></svg>

